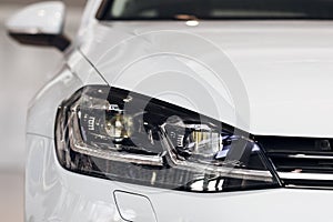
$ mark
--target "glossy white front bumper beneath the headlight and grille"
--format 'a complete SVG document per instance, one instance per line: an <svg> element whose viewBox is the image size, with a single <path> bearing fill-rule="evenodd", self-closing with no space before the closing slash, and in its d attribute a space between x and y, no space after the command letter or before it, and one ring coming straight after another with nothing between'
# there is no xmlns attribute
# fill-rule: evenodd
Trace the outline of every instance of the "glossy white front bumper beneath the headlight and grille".
<svg viewBox="0 0 333 222"><path fill-rule="evenodd" d="M122 222L113 198L115 190L148 196L159 222L325 222L332 216L331 191L273 189L199 194L130 185L68 172L58 163L53 139L33 134L27 139L29 222ZM142 206L140 201L138 204L132 209ZM141 213L132 212L133 221L140 221L135 215Z"/></svg>

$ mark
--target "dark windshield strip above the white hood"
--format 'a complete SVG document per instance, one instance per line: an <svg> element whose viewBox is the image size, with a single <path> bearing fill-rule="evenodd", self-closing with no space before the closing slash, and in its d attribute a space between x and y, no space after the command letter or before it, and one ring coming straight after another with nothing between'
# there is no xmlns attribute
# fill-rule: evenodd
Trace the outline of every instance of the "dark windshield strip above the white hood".
<svg viewBox="0 0 333 222"><path fill-rule="evenodd" d="M104 0L101 20L332 19L333 0Z"/></svg>

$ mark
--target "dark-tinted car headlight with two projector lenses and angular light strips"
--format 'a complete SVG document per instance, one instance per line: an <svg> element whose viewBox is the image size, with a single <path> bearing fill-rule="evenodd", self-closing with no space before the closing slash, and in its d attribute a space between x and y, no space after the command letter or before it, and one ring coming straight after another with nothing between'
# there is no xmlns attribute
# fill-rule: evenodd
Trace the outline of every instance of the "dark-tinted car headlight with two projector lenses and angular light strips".
<svg viewBox="0 0 333 222"><path fill-rule="evenodd" d="M57 155L72 172L196 192L280 186L255 141L193 111L88 85L59 107Z"/></svg>

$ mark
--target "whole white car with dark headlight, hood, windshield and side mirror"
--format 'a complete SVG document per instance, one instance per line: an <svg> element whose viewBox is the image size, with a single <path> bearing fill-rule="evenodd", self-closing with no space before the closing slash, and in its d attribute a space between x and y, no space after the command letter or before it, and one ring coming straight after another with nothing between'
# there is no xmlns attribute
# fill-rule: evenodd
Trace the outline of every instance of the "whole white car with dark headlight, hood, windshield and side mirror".
<svg viewBox="0 0 333 222"><path fill-rule="evenodd" d="M27 222L330 221L333 1L90 0L9 19L63 67L31 102Z"/></svg>

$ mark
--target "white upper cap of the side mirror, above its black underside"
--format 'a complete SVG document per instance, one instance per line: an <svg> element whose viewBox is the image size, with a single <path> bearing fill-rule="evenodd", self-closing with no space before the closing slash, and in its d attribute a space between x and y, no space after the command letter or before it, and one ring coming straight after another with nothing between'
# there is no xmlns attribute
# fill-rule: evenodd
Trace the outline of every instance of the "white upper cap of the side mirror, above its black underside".
<svg viewBox="0 0 333 222"><path fill-rule="evenodd" d="M10 33L60 34L64 23L61 1L39 2L26 7L7 21Z"/></svg>

